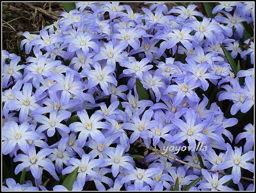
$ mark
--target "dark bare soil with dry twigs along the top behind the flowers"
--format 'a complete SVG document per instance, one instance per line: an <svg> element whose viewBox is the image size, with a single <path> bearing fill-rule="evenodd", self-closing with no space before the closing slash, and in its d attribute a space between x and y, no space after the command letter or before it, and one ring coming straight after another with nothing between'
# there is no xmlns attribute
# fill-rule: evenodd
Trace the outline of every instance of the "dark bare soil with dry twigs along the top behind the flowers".
<svg viewBox="0 0 256 193"><path fill-rule="evenodd" d="M125 2L120 3L131 6L134 12L142 12L141 8L149 8L150 4L144 5L143 2ZM174 3L166 3L169 9ZM23 32L39 34L39 31L47 24L53 23L58 15L64 12L61 3L3 3L2 9L10 6L3 13L2 19L2 49L10 52L12 48L17 51L17 40L22 40ZM43 13L44 12L44 13ZM60 18L60 17L59 17ZM49 23L48 23L49 22Z"/></svg>

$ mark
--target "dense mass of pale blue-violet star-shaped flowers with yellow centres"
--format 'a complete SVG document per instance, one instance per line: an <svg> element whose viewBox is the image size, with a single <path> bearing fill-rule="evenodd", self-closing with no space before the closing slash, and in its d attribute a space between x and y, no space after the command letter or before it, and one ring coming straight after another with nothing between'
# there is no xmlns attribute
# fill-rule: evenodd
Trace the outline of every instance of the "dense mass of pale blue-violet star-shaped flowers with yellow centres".
<svg viewBox="0 0 256 193"><path fill-rule="evenodd" d="M3 50L2 153L35 179L3 190L253 190L254 3L197 10L76 3Z"/></svg>

